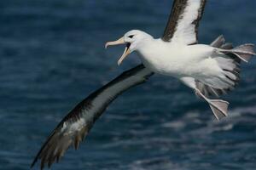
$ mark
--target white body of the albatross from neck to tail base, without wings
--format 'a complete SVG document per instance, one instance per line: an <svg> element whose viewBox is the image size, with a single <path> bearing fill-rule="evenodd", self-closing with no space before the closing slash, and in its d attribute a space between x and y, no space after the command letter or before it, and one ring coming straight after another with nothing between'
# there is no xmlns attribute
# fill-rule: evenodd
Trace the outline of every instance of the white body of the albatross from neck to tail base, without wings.
<svg viewBox="0 0 256 170"><path fill-rule="evenodd" d="M154 38L137 48L143 64L151 71L177 78L193 77L213 87L215 84L209 79L222 75L218 62L212 58L216 51L209 45L185 45Z"/></svg>

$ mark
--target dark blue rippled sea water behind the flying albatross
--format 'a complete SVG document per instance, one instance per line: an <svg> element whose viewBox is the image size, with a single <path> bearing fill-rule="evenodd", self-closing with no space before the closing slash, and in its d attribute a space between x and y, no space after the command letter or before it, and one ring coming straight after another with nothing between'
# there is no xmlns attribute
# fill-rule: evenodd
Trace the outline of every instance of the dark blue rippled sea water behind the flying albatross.
<svg viewBox="0 0 256 170"><path fill-rule="evenodd" d="M123 48L104 42L140 29L160 37L170 0L0 1L0 169L28 169L50 131L81 99L140 61L117 67ZM224 34L256 43L256 1L209 0L200 42ZM224 97L230 116L170 77L154 76L120 96L79 150L52 169L256 169L256 59Z"/></svg>

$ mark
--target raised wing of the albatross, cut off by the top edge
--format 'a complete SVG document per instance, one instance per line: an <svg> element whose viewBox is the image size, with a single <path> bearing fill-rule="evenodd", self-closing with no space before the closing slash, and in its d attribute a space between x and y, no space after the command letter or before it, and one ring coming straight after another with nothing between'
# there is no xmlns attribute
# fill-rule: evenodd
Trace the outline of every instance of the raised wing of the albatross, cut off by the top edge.
<svg viewBox="0 0 256 170"><path fill-rule="evenodd" d="M174 0L162 37L165 42L197 43L199 21L207 0Z"/></svg>

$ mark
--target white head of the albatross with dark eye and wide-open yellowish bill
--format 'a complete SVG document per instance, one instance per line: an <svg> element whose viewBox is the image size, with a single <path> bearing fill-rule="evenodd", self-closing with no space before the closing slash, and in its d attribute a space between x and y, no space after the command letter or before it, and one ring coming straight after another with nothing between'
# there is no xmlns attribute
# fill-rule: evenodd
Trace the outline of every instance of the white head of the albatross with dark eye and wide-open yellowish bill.
<svg viewBox="0 0 256 170"><path fill-rule="evenodd" d="M132 30L126 32L124 37L119 38L117 41L107 42L105 48L108 48L110 45L126 44L124 54L118 60L118 65L120 65L128 54L141 48L148 38L152 39L153 37L146 32Z"/></svg>

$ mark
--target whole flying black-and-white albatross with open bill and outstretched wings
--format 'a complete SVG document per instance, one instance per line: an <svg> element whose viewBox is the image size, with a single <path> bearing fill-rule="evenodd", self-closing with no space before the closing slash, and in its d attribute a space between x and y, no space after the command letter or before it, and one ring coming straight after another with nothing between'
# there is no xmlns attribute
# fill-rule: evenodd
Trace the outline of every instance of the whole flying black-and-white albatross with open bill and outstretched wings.
<svg viewBox="0 0 256 170"><path fill-rule="evenodd" d="M41 160L41 169L46 165L51 167L71 145L77 150L113 99L125 90L146 82L154 73L175 77L192 88L196 96L209 104L218 120L228 116L229 102L219 97L236 88L241 62L248 62L255 53L253 44L233 48L223 36L210 45L198 43L198 26L206 2L174 0L166 29L160 38L132 30L117 41L107 42L106 48L126 45L118 65L134 51L143 64L123 72L76 105L49 135L31 167L38 160Z"/></svg>

